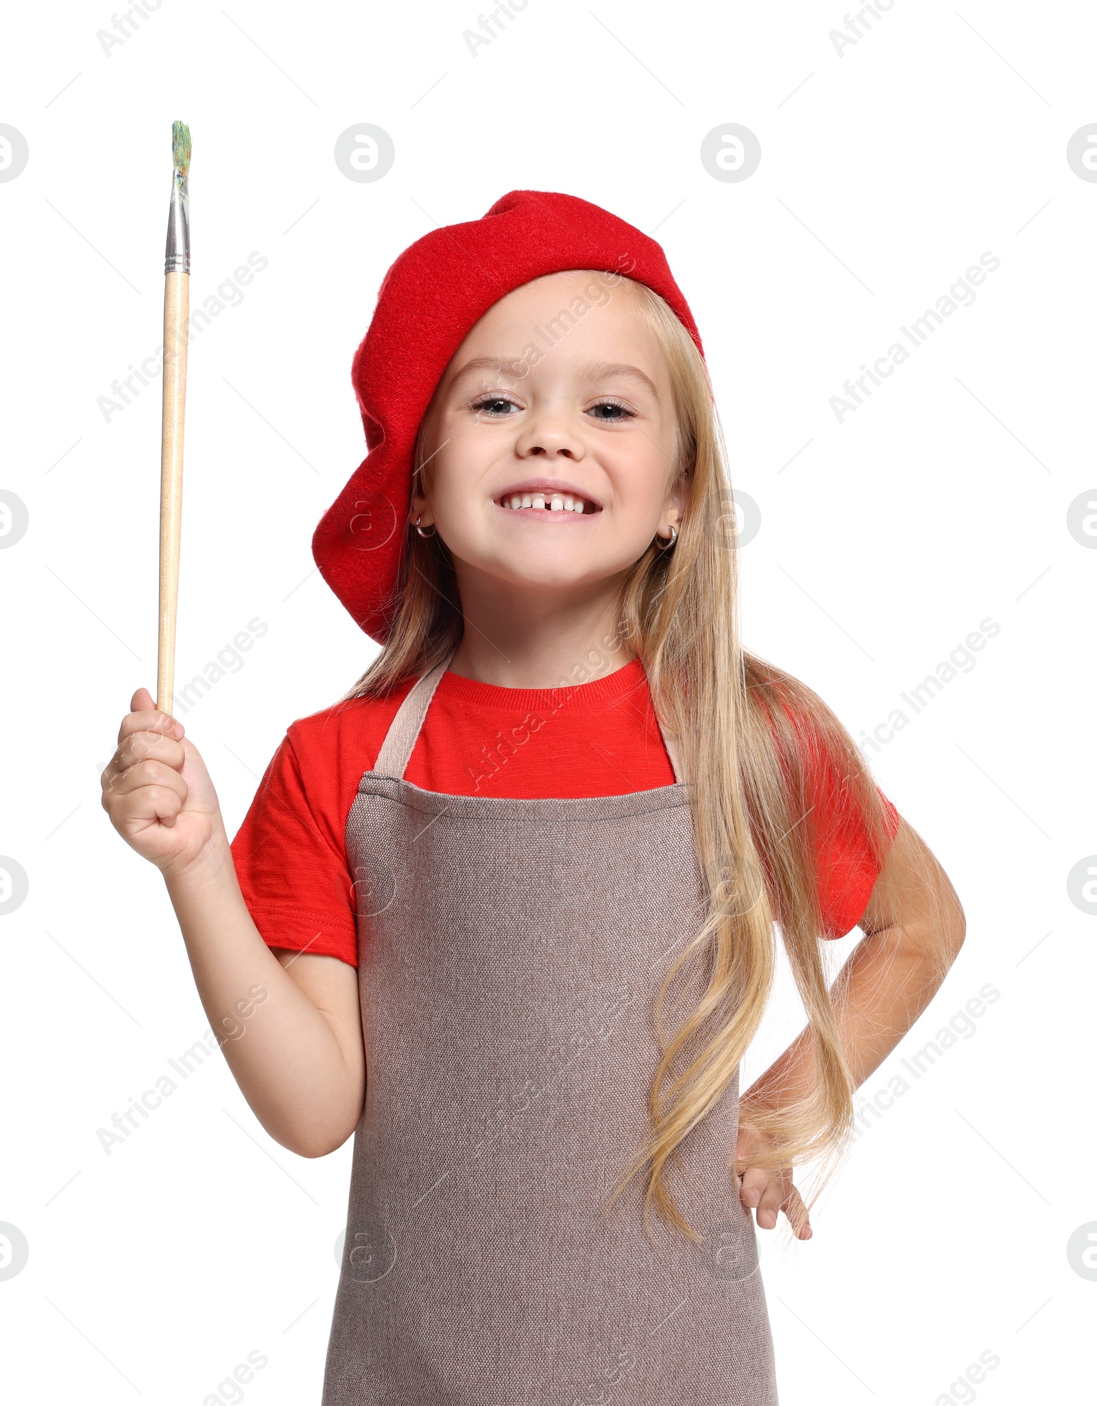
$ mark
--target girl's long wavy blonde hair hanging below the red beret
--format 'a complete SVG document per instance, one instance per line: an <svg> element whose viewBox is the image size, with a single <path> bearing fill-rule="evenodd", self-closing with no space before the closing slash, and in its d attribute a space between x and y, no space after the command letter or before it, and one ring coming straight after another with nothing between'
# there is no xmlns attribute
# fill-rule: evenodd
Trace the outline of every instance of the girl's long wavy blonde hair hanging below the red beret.
<svg viewBox="0 0 1097 1406"><path fill-rule="evenodd" d="M662 1053L648 1095L651 1129L613 1198L647 1171L644 1223L654 1204L667 1222L699 1240L674 1202L667 1171L678 1144L736 1078L761 1025L775 976L775 924L807 1015L816 1084L806 1098L779 1107L744 1105L750 1122L772 1137L769 1153L751 1157L751 1166L779 1170L819 1160L817 1192L852 1137L855 1085L823 960L821 834L807 752L814 749L816 763L840 778L878 865L889 830L861 751L831 709L799 679L741 647L734 502L707 370L664 299L622 281L667 359L678 422L668 488L684 475L688 498L674 550L653 543L629 574L619 628L643 662L661 725L676 742L705 912L655 998ZM423 449L421 427L416 474ZM425 540L409 526L391 633L345 700L383 697L422 675L450 654L461 631L453 560L437 534ZM702 977L703 994L668 1038L664 1001L686 963ZM672 1073L675 1063L685 1067Z"/></svg>

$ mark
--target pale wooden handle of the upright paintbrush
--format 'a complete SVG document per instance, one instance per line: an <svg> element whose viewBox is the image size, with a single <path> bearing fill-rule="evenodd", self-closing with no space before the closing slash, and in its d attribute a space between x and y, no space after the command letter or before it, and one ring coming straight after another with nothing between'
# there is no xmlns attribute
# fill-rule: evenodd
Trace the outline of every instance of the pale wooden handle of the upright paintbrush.
<svg viewBox="0 0 1097 1406"><path fill-rule="evenodd" d="M156 707L172 713L179 602L179 529L183 520L183 413L187 404L190 274L165 274L163 429L160 437L160 637Z"/></svg>

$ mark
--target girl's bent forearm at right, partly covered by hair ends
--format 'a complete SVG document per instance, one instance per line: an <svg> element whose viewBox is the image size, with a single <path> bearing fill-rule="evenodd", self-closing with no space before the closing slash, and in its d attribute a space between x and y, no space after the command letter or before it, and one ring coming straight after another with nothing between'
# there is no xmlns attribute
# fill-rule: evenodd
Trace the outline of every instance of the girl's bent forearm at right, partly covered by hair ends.
<svg viewBox="0 0 1097 1406"><path fill-rule="evenodd" d="M961 939L962 941L962 939ZM830 988L834 1019L854 1081L861 1085L899 1045L937 993L959 950L951 935L882 928L862 938ZM743 1095L744 1105L807 1098L816 1083L804 1028Z"/></svg>

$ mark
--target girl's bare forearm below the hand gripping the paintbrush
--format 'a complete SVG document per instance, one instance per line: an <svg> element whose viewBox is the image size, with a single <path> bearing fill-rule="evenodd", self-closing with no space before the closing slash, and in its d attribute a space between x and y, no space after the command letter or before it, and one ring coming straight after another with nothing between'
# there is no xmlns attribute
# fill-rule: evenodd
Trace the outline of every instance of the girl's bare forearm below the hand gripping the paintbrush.
<svg viewBox="0 0 1097 1406"><path fill-rule="evenodd" d="M165 880L203 1007L256 1118L301 1156L338 1147L361 1114L357 1062L263 941L228 841L200 869Z"/></svg>

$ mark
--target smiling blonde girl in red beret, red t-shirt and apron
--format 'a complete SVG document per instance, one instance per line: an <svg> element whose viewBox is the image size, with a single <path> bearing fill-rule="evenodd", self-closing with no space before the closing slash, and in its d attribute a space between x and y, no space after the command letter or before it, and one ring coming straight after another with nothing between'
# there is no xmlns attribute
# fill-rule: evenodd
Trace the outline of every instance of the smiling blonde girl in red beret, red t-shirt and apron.
<svg viewBox="0 0 1097 1406"><path fill-rule="evenodd" d="M256 1116L305 1157L354 1133L325 1406L769 1406L755 1223L811 1234L792 1168L848 1144L959 901L833 711L743 648L654 240L512 193L397 260L353 381L368 456L314 555L381 652L290 725L231 846L148 690L104 772ZM807 1025L740 1098L775 927Z"/></svg>

